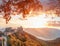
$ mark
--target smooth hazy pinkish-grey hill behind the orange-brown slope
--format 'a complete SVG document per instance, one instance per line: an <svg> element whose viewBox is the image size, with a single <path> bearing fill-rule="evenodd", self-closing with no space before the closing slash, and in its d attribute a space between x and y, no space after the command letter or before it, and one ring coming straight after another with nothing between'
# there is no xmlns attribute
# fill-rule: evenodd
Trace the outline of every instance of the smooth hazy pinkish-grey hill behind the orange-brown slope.
<svg viewBox="0 0 60 46"><path fill-rule="evenodd" d="M24 31L42 40L53 40L60 37L60 29L24 28Z"/></svg>

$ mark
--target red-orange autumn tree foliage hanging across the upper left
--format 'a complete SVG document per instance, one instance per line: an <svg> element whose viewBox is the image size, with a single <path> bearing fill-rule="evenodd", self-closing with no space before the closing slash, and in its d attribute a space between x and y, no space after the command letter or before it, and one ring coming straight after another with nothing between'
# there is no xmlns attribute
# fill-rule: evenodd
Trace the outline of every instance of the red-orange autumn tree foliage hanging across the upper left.
<svg viewBox="0 0 60 46"><path fill-rule="evenodd" d="M3 18L6 23L11 19L11 14L20 14L25 18L26 14L29 14L30 10L36 11L42 10L42 5L39 0L3 0L3 4L0 5L0 13L4 13Z"/></svg>

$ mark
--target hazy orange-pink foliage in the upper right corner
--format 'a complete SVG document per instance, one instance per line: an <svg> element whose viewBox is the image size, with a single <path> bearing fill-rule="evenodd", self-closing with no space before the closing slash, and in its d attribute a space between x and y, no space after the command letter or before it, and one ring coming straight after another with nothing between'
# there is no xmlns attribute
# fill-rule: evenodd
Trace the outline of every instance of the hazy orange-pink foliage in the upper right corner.
<svg viewBox="0 0 60 46"><path fill-rule="evenodd" d="M57 17L60 17L60 0L49 0L48 7L46 11L55 12L54 14L57 15ZM52 13L51 12L51 13Z"/></svg>

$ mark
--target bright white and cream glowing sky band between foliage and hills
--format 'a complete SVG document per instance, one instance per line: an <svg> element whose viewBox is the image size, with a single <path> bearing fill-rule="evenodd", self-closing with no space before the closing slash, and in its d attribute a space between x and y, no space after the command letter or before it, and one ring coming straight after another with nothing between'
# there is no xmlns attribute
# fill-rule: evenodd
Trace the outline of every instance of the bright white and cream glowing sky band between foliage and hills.
<svg viewBox="0 0 60 46"><path fill-rule="evenodd" d="M60 19L56 17L56 14L47 14L45 12L38 12L39 14L34 14L32 11L29 15L26 15L26 19L22 18L22 14L19 15L11 15L11 20L8 24L5 23L5 20L0 18L0 26L4 27L20 27L23 28L44 28L51 27L50 21L60 21ZM54 18L52 18L54 17ZM55 24L56 25L56 24Z"/></svg>

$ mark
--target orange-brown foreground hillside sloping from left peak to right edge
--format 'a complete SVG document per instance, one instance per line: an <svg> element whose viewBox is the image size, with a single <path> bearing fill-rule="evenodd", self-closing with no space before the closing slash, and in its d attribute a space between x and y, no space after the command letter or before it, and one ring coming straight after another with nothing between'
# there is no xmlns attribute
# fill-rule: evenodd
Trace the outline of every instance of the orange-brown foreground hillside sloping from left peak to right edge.
<svg viewBox="0 0 60 46"><path fill-rule="evenodd" d="M13 31L14 33L11 33ZM6 28L5 32L11 33L7 36L8 46L60 46L60 38L44 41L25 32L22 27L18 27L17 29Z"/></svg>

